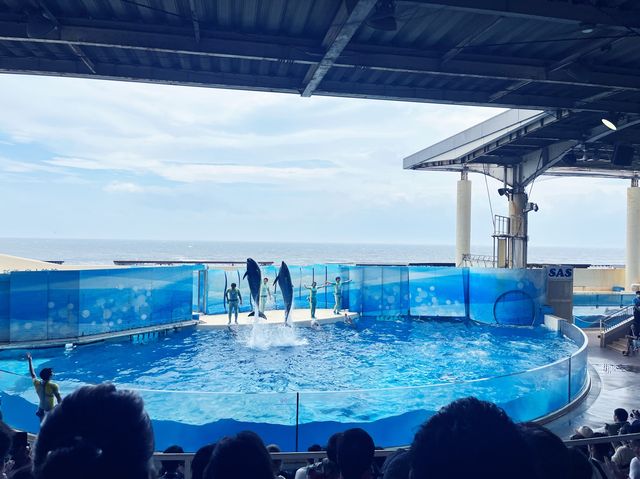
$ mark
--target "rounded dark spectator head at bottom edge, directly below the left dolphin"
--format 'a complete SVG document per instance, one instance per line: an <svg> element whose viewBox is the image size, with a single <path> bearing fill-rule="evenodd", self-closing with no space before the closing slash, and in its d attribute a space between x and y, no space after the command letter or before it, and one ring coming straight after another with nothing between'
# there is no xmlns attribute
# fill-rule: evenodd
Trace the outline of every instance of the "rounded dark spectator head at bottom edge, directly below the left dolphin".
<svg viewBox="0 0 640 479"><path fill-rule="evenodd" d="M209 465L205 469L206 479L273 479L271 456L257 434L239 432L225 437L216 444Z"/></svg>

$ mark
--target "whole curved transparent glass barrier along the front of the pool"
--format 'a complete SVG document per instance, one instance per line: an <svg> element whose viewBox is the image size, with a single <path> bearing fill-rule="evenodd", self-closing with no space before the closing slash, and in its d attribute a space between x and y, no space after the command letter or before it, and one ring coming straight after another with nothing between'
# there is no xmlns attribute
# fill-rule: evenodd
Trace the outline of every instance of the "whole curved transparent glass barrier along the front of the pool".
<svg viewBox="0 0 640 479"><path fill-rule="evenodd" d="M563 324L562 331L580 346L571 357L521 373L473 381L300 393L134 390L144 399L152 418L158 450L179 443L185 450L195 451L203 444L246 429L256 431L268 443L279 444L283 450L295 450L296 446L306 450L350 427L367 430L380 446L405 445L426 419L461 397L494 402L516 421L546 416L575 400L588 384L586 341L573 325ZM80 386L74 382L59 385L63 395ZM6 422L37 432L36 394L31 379L26 374L3 371L0 390ZM167 404L172 407L167 409Z"/></svg>

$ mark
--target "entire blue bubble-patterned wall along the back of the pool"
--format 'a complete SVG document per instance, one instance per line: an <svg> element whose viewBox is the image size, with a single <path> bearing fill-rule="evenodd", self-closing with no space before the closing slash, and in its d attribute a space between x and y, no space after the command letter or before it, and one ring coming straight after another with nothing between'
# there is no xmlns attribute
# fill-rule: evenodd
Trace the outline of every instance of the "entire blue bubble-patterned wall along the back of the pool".
<svg viewBox="0 0 640 479"><path fill-rule="evenodd" d="M316 264L290 267L294 307L308 308L304 285L340 276L342 305L376 317L470 319L489 324L542 322L544 269ZM272 283L278 268L262 268ZM244 268L143 267L80 271L18 271L0 275L0 342L73 339L191 319L192 311L224 314L232 282L252 308ZM277 291L272 307L282 309ZM611 301L620 300L612 295ZM334 307L333 289L318 307Z"/></svg>

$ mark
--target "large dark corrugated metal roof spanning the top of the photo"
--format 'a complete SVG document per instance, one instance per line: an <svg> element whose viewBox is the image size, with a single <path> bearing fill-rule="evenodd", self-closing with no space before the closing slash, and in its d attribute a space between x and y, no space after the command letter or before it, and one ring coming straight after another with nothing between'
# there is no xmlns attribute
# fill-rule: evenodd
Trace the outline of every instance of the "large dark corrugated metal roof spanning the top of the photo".
<svg viewBox="0 0 640 479"><path fill-rule="evenodd" d="M0 72L640 113L640 2L0 0Z"/></svg>

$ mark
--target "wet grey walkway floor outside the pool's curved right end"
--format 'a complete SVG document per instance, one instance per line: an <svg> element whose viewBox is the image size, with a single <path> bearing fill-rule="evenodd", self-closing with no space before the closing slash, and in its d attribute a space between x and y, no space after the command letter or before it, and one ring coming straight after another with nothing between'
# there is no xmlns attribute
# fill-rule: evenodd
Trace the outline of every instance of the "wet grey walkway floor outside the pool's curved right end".
<svg viewBox="0 0 640 479"><path fill-rule="evenodd" d="M545 424L562 439L569 439L580 426L604 432L613 422L613 410L621 407L631 413L640 409L640 356L626 357L601 348L597 331L585 331L589 338L589 374L591 390L574 410Z"/></svg>

